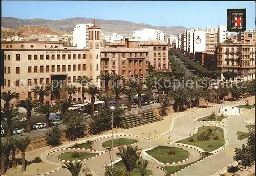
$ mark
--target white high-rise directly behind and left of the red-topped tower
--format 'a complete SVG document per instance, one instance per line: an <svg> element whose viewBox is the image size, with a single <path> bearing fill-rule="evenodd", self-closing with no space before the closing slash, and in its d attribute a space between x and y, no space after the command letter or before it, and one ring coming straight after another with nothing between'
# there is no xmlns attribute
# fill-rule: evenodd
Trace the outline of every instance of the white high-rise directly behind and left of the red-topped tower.
<svg viewBox="0 0 256 176"><path fill-rule="evenodd" d="M83 49L83 47L88 47L88 27L93 26L92 23L78 24L73 29L73 47L77 49Z"/></svg>

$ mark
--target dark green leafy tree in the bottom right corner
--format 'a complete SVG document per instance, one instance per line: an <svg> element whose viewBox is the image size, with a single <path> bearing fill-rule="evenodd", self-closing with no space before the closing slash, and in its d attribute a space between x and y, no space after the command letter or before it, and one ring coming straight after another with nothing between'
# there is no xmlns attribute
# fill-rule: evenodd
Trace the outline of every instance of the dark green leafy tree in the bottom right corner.
<svg viewBox="0 0 256 176"><path fill-rule="evenodd" d="M247 166L252 165L253 157L251 155L251 151L249 150L248 146L245 146L245 144L243 144L242 148L235 148L234 152L236 154L234 155L233 159L237 162L240 162L241 165L244 166L244 169L246 169Z"/></svg>

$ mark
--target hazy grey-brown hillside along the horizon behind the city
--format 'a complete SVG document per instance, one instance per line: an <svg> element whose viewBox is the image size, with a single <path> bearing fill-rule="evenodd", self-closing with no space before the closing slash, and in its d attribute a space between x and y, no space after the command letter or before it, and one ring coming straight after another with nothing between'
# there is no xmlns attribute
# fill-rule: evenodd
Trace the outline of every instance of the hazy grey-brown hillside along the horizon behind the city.
<svg viewBox="0 0 256 176"><path fill-rule="evenodd" d="M19 26L45 26L50 28L53 31L62 31L65 33L72 34L72 31L76 24L82 23L93 23L92 18L83 18L83 17L75 17L61 20L46 20L46 19L18 19L13 17L2 17L2 27L17 29ZM96 19L96 24L102 28L102 33L104 34L112 34L112 32L116 32L120 35L127 36L132 34L135 30L141 30L143 28L154 28L157 30L163 31L166 36L178 35L187 28L183 26L151 26L144 23L133 23L129 21L118 21L118 20L103 20Z"/></svg>

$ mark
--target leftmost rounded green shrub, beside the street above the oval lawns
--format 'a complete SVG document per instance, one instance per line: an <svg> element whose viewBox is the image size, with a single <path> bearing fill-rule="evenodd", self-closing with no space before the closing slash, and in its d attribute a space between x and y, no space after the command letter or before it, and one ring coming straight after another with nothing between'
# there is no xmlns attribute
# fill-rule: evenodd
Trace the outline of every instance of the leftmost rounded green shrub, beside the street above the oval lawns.
<svg viewBox="0 0 256 176"><path fill-rule="evenodd" d="M49 129L48 131L45 132L45 140L46 140L46 145L51 145L51 146L57 146L60 145L60 135L61 131L58 128L58 126L52 127L52 129Z"/></svg>

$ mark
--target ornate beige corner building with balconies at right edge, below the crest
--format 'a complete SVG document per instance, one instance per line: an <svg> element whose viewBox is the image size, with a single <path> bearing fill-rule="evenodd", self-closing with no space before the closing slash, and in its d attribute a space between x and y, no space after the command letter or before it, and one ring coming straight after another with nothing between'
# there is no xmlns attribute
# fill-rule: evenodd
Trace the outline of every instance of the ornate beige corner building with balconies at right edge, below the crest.
<svg viewBox="0 0 256 176"><path fill-rule="evenodd" d="M256 47L253 43L217 44L217 67L223 72L237 73L235 80L255 79Z"/></svg>

